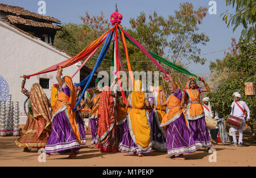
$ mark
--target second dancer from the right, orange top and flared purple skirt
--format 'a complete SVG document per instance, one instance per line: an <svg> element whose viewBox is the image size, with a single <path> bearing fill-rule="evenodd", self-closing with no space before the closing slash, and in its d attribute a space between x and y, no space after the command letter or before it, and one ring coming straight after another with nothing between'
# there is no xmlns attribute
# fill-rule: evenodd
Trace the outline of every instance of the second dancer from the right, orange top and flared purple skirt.
<svg viewBox="0 0 256 178"><path fill-rule="evenodd" d="M163 89L160 90L160 105L168 107L161 127L166 126L167 153L171 159L185 159L185 153L195 152L196 146L189 131L188 122L182 107L182 94L179 85L167 74L170 80L169 90L172 93L164 101ZM175 157L176 156L176 157Z"/></svg>

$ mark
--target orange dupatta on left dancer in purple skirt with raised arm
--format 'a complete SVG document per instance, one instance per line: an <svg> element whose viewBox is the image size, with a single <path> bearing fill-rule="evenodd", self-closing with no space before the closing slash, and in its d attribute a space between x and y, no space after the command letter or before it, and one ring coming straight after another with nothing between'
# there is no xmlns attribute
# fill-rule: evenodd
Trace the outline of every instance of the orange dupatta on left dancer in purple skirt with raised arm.
<svg viewBox="0 0 256 178"><path fill-rule="evenodd" d="M70 94L71 96L67 96L67 94L65 94L63 91L61 91L58 94L58 100L59 101L64 101L64 102L59 102L56 104L54 110L52 111L52 114L54 114L57 110L60 109L60 107L62 106L66 106L67 107L67 112L68 112L68 117L69 117L69 122L71 124L71 127L73 129L73 132L76 136L77 141L79 142L79 144L81 144L81 138L79 135L79 129L76 125L76 115L75 113L73 113L73 108L76 106L76 93L75 93L75 86L73 85L72 79L69 76L65 76L64 77L64 83L69 87L69 90L71 91Z"/></svg>

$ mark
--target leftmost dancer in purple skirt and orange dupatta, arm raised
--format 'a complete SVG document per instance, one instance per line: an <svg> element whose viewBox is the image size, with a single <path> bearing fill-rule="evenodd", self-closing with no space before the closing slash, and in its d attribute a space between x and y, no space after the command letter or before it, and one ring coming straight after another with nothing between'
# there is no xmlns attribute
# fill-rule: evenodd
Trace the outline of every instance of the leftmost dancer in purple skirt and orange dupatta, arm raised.
<svg viewBox="0 0 256 178"><path fill-rule="evenodd" d="M76 106L76 93L71 77L61 78L62 71L59 68L56 75L61 92L58 94L58 101L52 112L53 126L46 144L46 153L70 150L71 154L68 158L74 158L81 144L75 114L72 111Z"/></svg>

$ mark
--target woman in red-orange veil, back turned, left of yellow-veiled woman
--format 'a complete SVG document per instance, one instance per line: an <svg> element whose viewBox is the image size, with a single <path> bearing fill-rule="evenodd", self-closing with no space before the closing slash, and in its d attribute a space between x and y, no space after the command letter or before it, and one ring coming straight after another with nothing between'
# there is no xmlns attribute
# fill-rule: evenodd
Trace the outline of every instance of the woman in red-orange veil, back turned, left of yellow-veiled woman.
<svg viewBox="0 0 256 178"><path fill-rule="evenodd" d="M117 152L117 121L114 117L114 99L109 86L104 86L98 106L97 144L100 152Z"/></svg>

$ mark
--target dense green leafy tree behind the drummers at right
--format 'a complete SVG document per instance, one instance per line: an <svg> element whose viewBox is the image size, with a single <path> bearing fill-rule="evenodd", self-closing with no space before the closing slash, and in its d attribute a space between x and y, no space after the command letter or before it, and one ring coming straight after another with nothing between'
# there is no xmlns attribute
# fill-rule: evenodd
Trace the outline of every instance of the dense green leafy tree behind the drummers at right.
<svg viewBox="0 0 256 178"><path fill-rule="evenodd" d="M228 118L231 113L230 105L233 102L233 93L240 92L242 101L248 105L251 115L250 121L247 123L251 131L255 129L255 96L245 96L245 82L255 82L256 78L256 42L246 44L238 43L239 50L236 53L228 53L223 60L217 60L215 64L210 65L211 71L222 75L222 69L229 73L222 80L219 80L217 88L211 91L211 104L218 113L223 113ZM215 73L215 74L216 74ZM253 132L254 133L254 132Z"/></svg>

